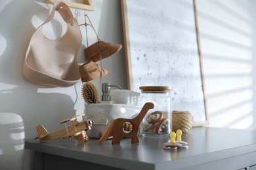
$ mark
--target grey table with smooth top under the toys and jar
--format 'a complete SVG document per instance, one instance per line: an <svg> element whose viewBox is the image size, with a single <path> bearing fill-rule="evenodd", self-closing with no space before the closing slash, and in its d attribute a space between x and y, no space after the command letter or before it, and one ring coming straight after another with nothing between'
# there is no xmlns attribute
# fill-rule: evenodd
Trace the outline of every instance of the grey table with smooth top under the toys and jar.
<svg viewBox="0 0 256 170"><path fill-rule="evenodd" d="M75 139L32 139L25 148L35 150L35 169L256 169L256 131L194 127L182 134L189 148L178 150L163 149L167 138L139 140L79 144Z"/></svg>

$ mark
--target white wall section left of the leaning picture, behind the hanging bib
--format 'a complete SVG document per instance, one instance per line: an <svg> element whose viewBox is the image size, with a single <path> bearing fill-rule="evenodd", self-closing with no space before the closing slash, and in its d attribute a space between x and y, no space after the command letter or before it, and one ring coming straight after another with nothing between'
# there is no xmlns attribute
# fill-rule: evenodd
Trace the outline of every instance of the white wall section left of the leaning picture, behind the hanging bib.
<svg viewBox="0 0 256 170"><path fill-rule="evenodd" d="M37 136L35 127L42 124L48 131L62 126L61 120L84 112L79 82L69 88L46 88L28 82L22 75L22 63L28 48L30 37L35 28L49 16L49 8L40 1L1 0L0 1L0 112L13 112L22 116L26 139ZM120 1L93 1L95 11L87 11L91 22L102 41L123 44ZM49 5L49 7L53 7ZM73 14L75 9L71 9ZM79 24L84 24L84 10L78 10ZM55 25L60 26L60 24ZM51 24L47 25L51 28ZM61 27L58 27L61 29ZM90 29L90 28L89 28ZM57 31L61 32L61 31ZM77 59L84 60L83 49L86 46L85 27L81 26L83 44ZM46 32L47 34L47 32ZM48 33L49 34L49 33ZM51 35L49 34L51 37ZM93 29L89 31L89 44L96 42ZM119 84L127 88L124 48L102 60L108 75L102 82ZM92 81L101 95L100 78ZM26 150L25 169L31 168L33 152Z"/></svg>

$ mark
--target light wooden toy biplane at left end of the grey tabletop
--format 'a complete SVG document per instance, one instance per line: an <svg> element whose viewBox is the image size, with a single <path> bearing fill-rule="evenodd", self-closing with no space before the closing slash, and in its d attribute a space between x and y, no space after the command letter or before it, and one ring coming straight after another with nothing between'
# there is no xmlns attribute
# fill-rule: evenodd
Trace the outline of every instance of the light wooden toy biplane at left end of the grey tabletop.
<svg viewBox="0 0 256 170"><path fill-rule="evenodd" d="M75 137L78 143L83 143L88 140L88 136L85 131L91 129L91 126L95 124L93 120L85 120L83 117L84 115L85 113L63 120L60 124L64 124L65 127L57 131L53 131L52 133L49 133L42 125L38 125L36 127L38 137L35 137L35 139L39 139L40 141L49 141L53 139L70 139L70 137ZM78 122L77 118L81 116L83 121ZM67 127L66 122L72 122L72 125Z"/></svg>

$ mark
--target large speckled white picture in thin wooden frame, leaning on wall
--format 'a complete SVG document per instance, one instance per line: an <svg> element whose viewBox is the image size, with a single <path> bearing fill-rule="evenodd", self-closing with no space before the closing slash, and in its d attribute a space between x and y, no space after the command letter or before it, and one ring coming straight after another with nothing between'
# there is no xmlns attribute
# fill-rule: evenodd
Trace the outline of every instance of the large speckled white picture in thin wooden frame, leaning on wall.
<svg viewBox="0 0 256 170"><path fill-rule="evenodd" d="M121 0L121 12L129 90L173 86L172 109L209 124L196 1Z"/></svg>

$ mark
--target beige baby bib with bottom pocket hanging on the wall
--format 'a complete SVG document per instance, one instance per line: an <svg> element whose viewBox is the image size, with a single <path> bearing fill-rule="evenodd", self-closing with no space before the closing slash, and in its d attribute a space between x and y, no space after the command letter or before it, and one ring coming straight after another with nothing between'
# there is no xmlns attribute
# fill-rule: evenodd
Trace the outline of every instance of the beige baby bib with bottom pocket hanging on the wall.
<svg viewBox="0 0 256 170"><path fill-rule="evenodd" d="M51 40L43 35L43 25L50 22L58 10L67 24L63 37ZM54 3L47 20L33 33L23 64L23 74L30 82L46 86L72 86L80 80L77 52L82 35L77 20L65 3Z"/></svg>

